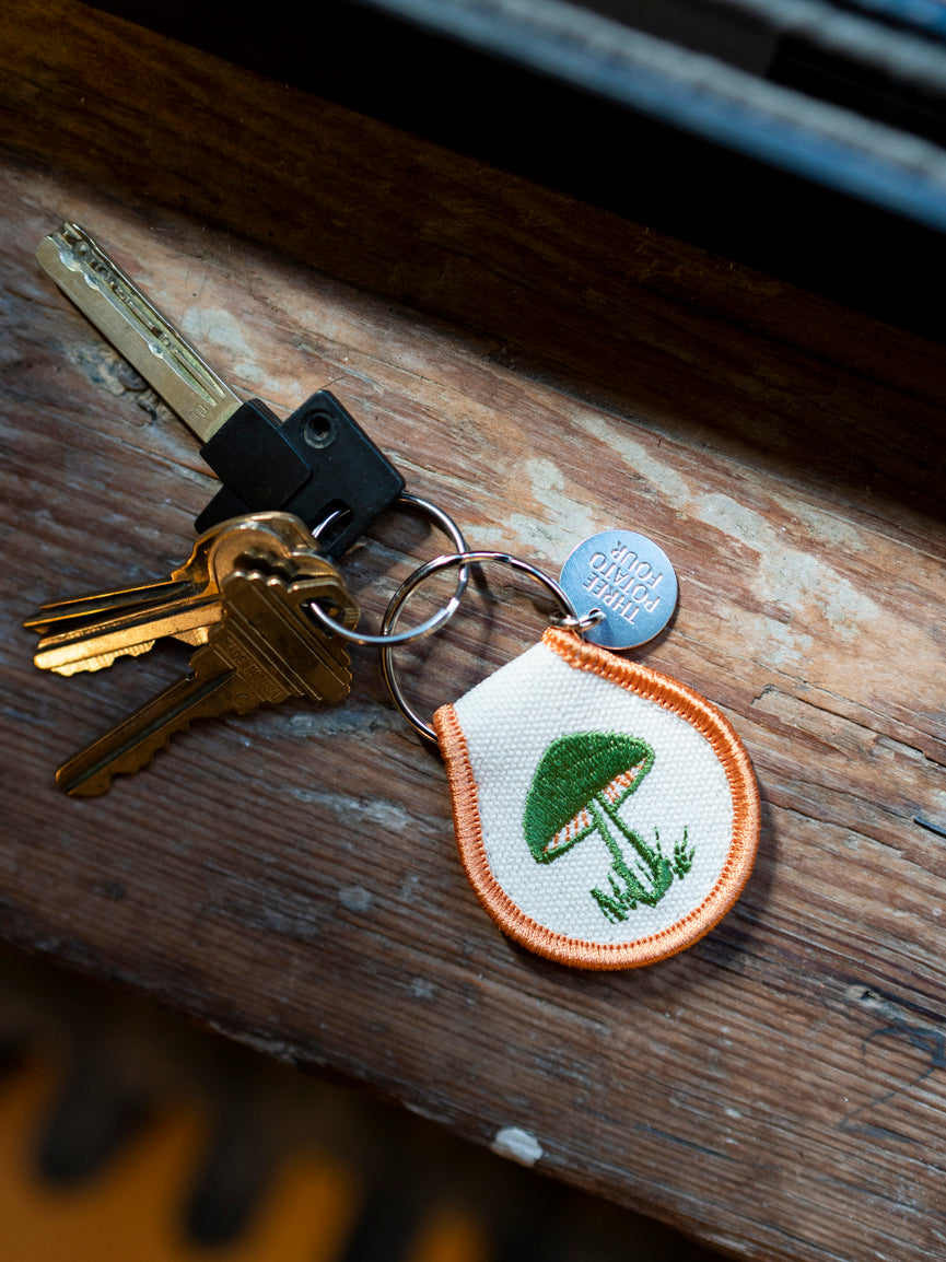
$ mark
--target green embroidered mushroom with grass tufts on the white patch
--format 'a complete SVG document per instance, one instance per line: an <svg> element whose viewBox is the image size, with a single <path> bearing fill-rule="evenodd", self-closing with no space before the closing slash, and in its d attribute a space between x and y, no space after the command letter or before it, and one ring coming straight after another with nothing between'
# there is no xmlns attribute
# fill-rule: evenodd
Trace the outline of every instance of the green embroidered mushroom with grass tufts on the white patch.
<svg viewBox="0 0 946 1262"><path fill-rule="evenodd" d="M671 863L656 828L656 844L648 846L621 818L622 804L650 772L653 757L646 741L621 732L561 736L539 761L526 798L522 828L537 863L552 863L593 834L608 847L608 890L595 887L590 893L613 923L627 920L641 902L656 906L674 877L682 880L692 864L686 829ZM636 871L628 866L621 838L631 847Z"/></svg>

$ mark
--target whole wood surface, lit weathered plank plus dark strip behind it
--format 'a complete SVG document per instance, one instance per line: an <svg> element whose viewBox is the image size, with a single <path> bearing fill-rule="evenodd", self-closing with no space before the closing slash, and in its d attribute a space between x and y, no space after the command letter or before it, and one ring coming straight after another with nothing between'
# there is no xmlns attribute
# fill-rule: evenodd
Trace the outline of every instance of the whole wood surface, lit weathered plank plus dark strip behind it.
<svg viewBox="0 0 946 1262"><path fill-rule="evenodd" d="M946 840L916 822L946 825L940 350L82 6L53 38L49 8L0 19L0 933L481 1145L518 1127L537 1169L733 1256L946 1252ZM764 801L715 931L592 976L503 939L366 650L343 705L54 789L187 654L62 679L23 617L164 574L214 486L35 265L66 217L240 391L330 386L472 545L558 572L598 529L660 541L681 598L641 660L724 709ZM343 565L367 622L440 546L372 529ZM399 655L424 713L544 625L487 581Z"/></svg>

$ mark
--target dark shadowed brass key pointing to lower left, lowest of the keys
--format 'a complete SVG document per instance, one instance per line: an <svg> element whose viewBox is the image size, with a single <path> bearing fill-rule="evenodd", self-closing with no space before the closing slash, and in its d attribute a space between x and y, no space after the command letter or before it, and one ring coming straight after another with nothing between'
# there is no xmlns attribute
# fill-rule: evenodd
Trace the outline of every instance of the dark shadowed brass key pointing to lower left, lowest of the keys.
<svg viewBox="0 0 946 1262"><path fill-rule="evenodd" d="M307 606L334 604L354 626L358 608L337 573L288 581L260 570L232 570L221 583L223 615L190 670L117 727L64 762L57 784L76 796L97 796L112 777L148 766L175 732L194 719L246 714L289 697L341 702L348 695L348 654L325 635Z"/></svg>

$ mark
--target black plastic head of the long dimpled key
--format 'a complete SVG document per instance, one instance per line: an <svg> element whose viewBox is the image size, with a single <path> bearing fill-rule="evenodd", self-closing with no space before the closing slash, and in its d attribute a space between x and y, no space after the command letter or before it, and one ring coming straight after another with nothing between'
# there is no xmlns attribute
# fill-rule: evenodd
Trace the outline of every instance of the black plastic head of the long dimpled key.
<svg viewBox="0 0 946 1262"><path fill-rule="evenodd" d="M342 404L319 390L281 425L259 400L243 404L201 449L223 482L198 531L246 512L281 509L315 528L341 557L404 491L404 478Z"/></svg>

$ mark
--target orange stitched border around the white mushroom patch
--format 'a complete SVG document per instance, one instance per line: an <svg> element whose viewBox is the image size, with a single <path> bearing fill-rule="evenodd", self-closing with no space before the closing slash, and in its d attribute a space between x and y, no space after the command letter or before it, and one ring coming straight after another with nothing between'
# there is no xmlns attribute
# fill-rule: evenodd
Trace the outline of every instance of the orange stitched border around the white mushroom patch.
<svg viewBox="0 0 946 1262"><path fill-rule="evenodd" d="M447 764L453 820L460 862L483 907L503 933L546 959L574 968L638 968L675 955L709 933L742 893L756 861L759 834L759 794L749 756L728 719L694 689L634 661L616 658L607 649L587 644L568 631L550 627L542 644L570 666L602 675L665 709L679 714L713 746L733 795L733 835L719 880L699 907L669 929L632 943L600 944L566 938L520 911L489 870L479 823L477 785L467 741L453 705L434 714L434 728Z"/></svg>

